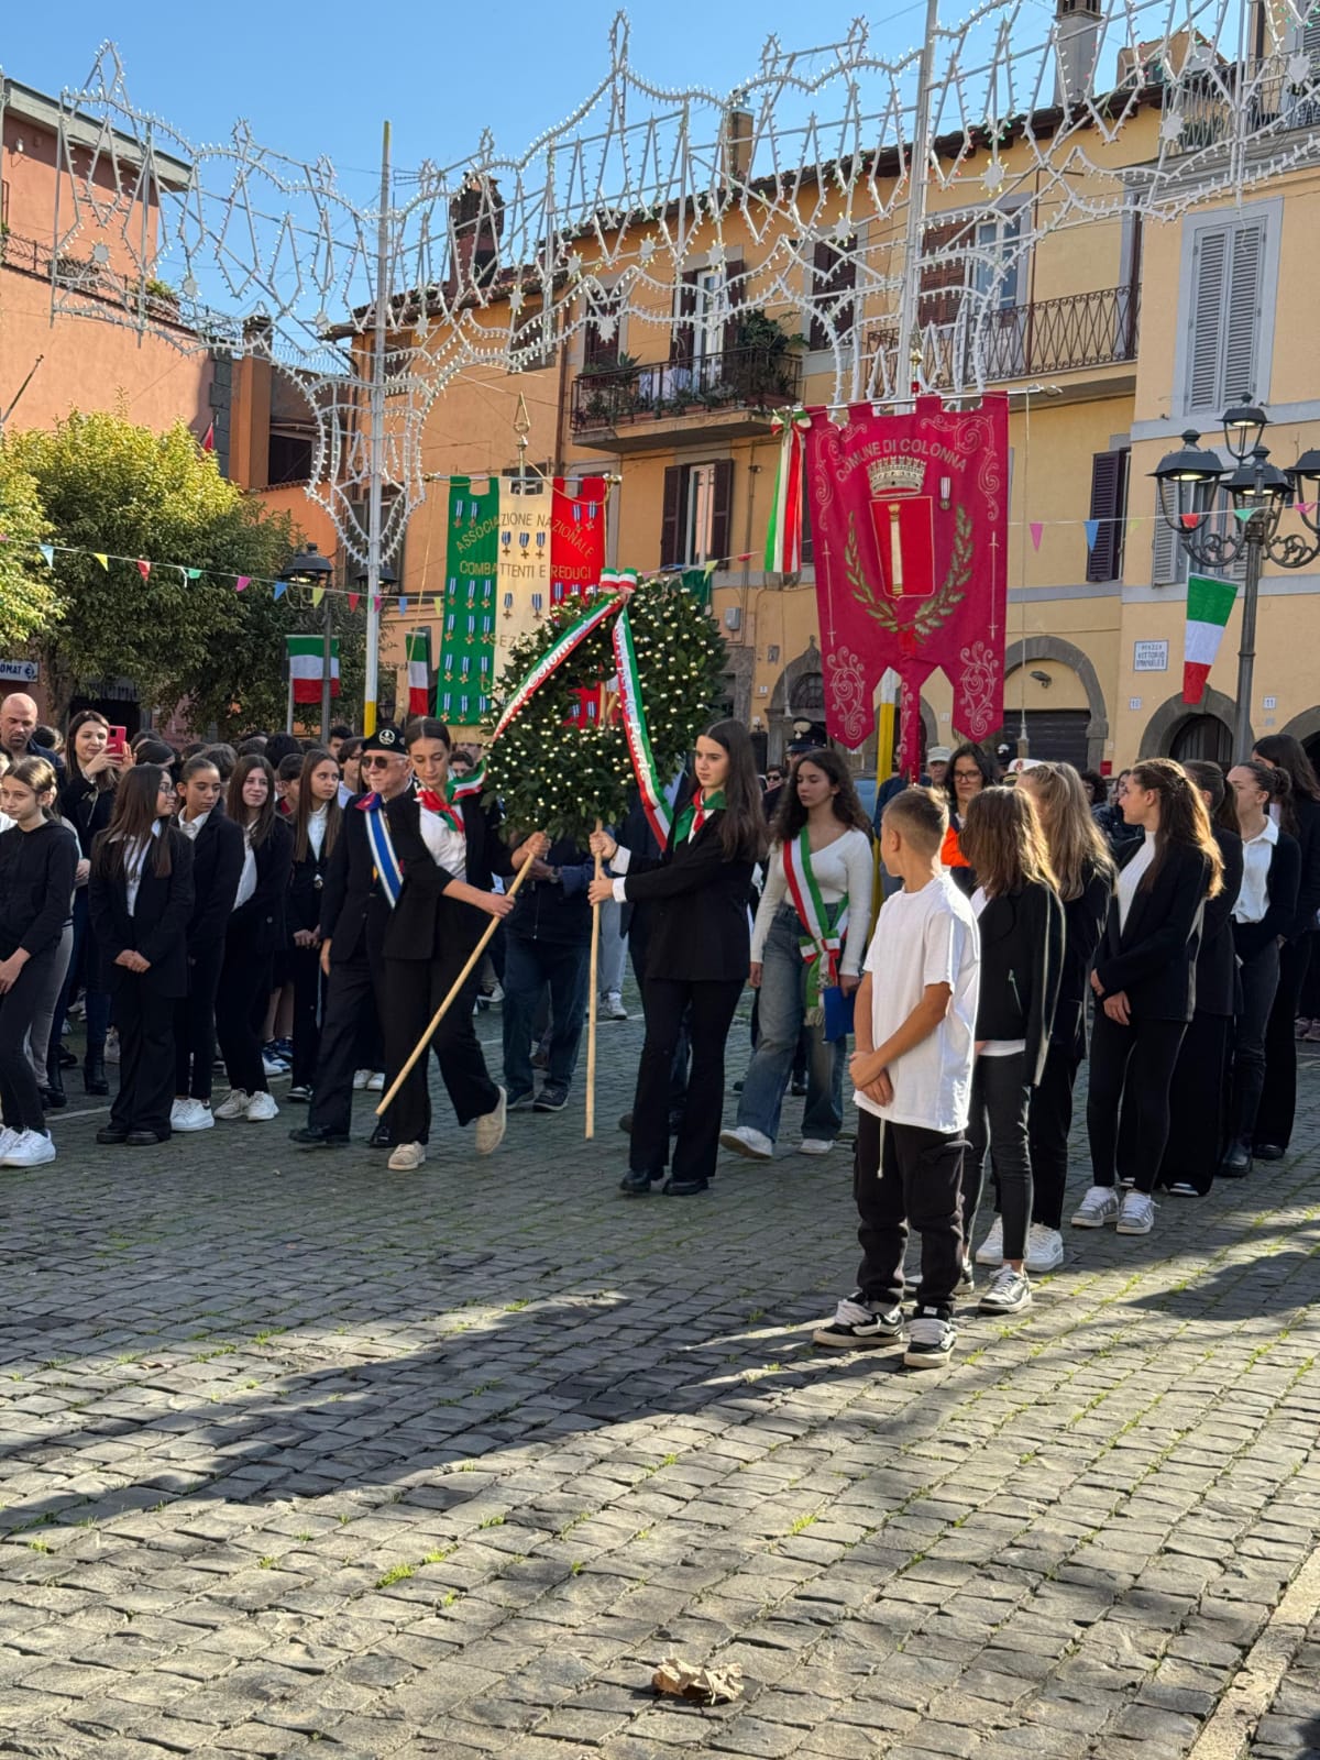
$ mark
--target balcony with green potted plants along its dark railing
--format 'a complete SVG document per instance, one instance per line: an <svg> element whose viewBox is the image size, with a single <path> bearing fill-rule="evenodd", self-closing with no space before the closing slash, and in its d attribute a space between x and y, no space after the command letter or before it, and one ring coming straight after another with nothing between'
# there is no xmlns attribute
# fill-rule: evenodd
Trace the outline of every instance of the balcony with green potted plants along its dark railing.
<svg viewBox="0 0 1320 1760"><path fill-rule="evenodd" d="M803 364L783 347L725 348L699 361L605 368L574 380L568 421L579 445L644 451L764 433L771 410L801 396Z"/></svg>

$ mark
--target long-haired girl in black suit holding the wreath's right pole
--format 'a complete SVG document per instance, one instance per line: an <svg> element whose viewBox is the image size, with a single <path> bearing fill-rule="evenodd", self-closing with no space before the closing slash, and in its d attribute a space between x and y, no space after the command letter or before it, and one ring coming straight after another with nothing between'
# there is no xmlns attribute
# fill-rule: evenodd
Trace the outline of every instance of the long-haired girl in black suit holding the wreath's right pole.
<svg viewBox="0 0 1320 1760"><path fill-rule="evenodd" d="M690 1197L709 1186L720 1149L725 1040L752 968L748 892L766 855L766 813L746 727L716 722L708 729L697 739L695 771L697 792L678 813L658 862L632 861L607 831L591 834L591 854L620 875L593 880L591 903L655 905L642 984L646 1042L621 1181L634 1195L664 1179L669 1082L686 1010L692 1077L665 1192Z"/></svg>

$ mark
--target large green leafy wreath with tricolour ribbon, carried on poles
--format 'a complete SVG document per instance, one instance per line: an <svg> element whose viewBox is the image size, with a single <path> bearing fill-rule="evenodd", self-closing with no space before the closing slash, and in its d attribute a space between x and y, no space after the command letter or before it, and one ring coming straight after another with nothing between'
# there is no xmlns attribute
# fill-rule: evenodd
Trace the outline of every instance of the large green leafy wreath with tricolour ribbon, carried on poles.
<svg viewBox="0 0 1320 1760"><path fill-rule="evenodd" d="M514 642L509 667L491 699L482 732L488 741L503 704L532 667L583 614L579 604L553 611ZM725 642L709 611L671 581L646 581L628 600L642 708L660 785L692 752L702 727L716 716L725 669ZM635 794L623 722L570 725L574 692L607 685L616 676L614 620L607 618L523 704L488 746L488 790L503 803L521 831L544 831L586 847L597 818L618 825Z"/></svg>

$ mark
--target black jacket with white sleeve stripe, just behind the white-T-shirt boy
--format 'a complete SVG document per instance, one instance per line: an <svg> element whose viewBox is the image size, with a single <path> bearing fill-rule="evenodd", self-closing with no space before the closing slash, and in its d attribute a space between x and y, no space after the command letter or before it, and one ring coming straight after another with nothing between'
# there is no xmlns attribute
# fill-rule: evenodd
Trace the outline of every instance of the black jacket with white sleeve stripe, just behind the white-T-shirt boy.
<svg viewBox="0 0 1320 1760"><path fill-rule="evenodd" d="M977 1038L1024 1038L1026 1077L1045 1068L1063 964L1063 905L1033 880L986 901L980 931Z"/></svg>

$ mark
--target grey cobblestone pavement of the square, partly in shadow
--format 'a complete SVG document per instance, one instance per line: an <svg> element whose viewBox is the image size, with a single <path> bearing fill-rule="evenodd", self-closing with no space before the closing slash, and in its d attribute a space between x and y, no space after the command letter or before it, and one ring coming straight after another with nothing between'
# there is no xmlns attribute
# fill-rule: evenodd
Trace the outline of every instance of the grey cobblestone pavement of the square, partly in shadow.
<svg viewBox="0 0 1320 1760"><path fill-rule="evenodd" d="M810 1345L843 1153L616 1193L639 1045L591 1144L391 1174L285 1105L137 1155L81 1102L0 1176L0 1749L1320 1751L1320 1068L1287 1163L1074 1232L913 1376ZM656 1700L671 1653L743 1698Z"/></svg>

